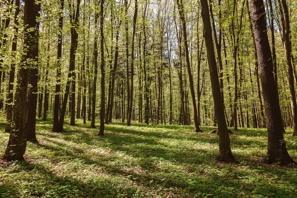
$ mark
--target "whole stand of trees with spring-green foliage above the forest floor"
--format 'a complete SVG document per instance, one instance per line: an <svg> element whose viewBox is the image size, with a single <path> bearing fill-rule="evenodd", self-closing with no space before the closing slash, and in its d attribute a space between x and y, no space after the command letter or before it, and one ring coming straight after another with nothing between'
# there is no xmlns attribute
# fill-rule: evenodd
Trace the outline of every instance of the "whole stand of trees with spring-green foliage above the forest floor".
<svg viewBox="0 0 297 198"><path fill-rule="evenodd" d="M99 136L112 121L217 126L225 161L228 126L267 127L268 162L293 163L295 11L293 0L2 0L4 158L22 159L49 116L52 132L100 119Z"/></svg>

